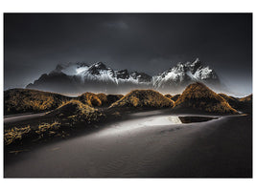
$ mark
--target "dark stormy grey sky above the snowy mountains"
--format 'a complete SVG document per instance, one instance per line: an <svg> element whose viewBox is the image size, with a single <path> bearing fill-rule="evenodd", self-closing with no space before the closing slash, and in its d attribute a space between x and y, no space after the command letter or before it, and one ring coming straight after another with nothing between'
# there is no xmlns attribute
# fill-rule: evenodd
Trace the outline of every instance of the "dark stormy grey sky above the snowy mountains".
<svg viewBox="0 0 256 191"><path fill-rule="evenodd" d="M148 74L199 58L234 93L252 92L252 14L4 15L5 89L58 63L103 61Z"/></svg>

